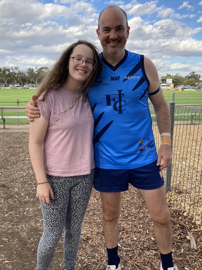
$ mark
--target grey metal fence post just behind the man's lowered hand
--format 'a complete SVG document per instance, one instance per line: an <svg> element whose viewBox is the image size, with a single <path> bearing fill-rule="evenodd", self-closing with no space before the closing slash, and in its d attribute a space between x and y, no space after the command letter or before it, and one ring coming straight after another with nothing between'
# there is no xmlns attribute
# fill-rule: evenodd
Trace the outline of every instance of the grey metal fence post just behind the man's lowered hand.
<svg viewBox="0 0 202 270"><path fill-rule="evenodd" d="M171 120L171 133L170 133L171 151L172 151L172 142L173 142L174 122L175 122L175 107L174 106L175 106L175 102L172 102L172 101L169 102L169 112L170 112L170 120ZM172 160L171 160L170 165L166 168L166 183L165 183L166 192L170 191L171 175L172 175Z"/></svg>

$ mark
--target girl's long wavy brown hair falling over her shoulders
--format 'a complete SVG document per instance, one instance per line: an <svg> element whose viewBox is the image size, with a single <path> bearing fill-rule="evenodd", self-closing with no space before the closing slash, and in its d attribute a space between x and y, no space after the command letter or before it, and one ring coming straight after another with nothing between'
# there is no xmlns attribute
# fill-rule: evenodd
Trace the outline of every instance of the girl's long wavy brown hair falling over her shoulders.
<svg viewBox="0 0 202 270"><path fill-rule="evenodd" d="M38 91L34 98L33 105L36 106L37 102L39 101L39 96L43 93L42 99L40 101L44 101L45 97L47 96L48 92L52 89L58 90L62 87L62 85L67 81L68 77L68 63L70 55L73 49L79 45L85 44L89 46L94 53L94 62L96 63L93 72L90 74L90 77L87 81L85 81L80 87L77 88L78 97L73 102L72 107L76 104L80 96L83 94L83 99L85 98L88 89L94 84L96 78L98 77L99 73L101 72L101 64L99 60L99 50L98 48L87 40L78 40L77 42L71 44L57 59L56 63L53 65L52 68L44 75L42 82L39 85ZM71 107L71 108L72 108ZM71 109L70 108L70 109ZM69 109L69 108L68 108Z"/></svg>

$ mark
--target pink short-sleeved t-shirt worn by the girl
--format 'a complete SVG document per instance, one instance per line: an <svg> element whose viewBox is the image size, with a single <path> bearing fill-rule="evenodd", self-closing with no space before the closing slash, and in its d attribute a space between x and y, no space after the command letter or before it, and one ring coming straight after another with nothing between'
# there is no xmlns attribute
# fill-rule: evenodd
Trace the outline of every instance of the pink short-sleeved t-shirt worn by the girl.
<svg viewBox="0 0 202 270"><path fill-rule="evenodd" d="M49 121L43 142L45 173L76 176L90 173L95 167L93 151L94 117L87 98L62 87L51 90L37 106ZM39 97L40 99L41 97ZM64 112L65 111L65 112ZM62 112L62 113L61 113Z"/></svg>

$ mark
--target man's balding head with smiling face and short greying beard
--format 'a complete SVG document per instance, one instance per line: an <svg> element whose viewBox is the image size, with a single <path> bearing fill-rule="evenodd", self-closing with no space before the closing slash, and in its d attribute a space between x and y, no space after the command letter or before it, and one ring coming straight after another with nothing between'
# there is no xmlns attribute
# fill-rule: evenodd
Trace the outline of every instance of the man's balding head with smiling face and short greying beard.
<svg viewBox="0 0 202 270"><path fill-rule="evenodd" d="M102 12L97 35L103 47L104 56L124 56L129 30L130 27L126 26L126 16L120 8L109 7Z"/></svg>

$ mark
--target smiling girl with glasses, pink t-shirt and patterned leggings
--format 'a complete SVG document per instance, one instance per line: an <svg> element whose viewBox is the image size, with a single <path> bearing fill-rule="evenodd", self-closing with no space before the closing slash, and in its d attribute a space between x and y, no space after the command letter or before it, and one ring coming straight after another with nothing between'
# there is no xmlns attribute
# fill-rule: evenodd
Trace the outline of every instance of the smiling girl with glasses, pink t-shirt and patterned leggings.
<svg viewBox="0 0 202 270"><path fill-rule="evenodd" d="M65 270L75 269L95 167L86 92L99 73L97 48L78 40L47 73L34 100L41 117L30 122L29 150L44 219L37 270L48 269L63 228Z"/></svg>

